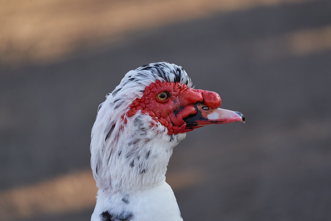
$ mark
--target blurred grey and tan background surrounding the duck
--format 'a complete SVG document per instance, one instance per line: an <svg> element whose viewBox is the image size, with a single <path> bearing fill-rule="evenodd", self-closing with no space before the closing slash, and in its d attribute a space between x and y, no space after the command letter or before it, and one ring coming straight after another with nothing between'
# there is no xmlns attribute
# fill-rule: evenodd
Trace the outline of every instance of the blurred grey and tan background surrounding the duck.
<svg viewBox="0 0 331 221"><path fill-rule="evenodd" d="M246 117L175 147L184 220L331 220L330 0L0 0L0 220L90 220L97 107L158 61Z"/></svg>

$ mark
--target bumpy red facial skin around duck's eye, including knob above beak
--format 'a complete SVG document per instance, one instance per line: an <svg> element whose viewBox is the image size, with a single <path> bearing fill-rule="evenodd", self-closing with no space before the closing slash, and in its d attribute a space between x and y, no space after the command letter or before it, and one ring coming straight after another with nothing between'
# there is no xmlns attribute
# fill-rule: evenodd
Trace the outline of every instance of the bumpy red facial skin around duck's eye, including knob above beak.
<svg viewBox="0 0 331 221"><path fill-rule="evenodd" d="M161 101L157 95L164 91L167 91L170 97ZM142 113L148 113L156 122L165 126L169 135L185 133L193 129L186 129L183 118L197 113L194 105L197 102L202 102L213 109L221 105L221 98L212 91L188 88L183 83L157 80L145 88L142 98L133 101L127 116L132 117L141 110Z"/></svg>

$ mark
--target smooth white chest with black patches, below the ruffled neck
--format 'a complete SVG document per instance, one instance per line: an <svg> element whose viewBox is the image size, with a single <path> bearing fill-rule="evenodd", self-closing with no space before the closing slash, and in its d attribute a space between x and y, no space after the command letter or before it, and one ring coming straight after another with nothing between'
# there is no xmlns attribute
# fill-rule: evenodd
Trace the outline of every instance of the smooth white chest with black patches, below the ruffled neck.
<svg viewBox="0 0 331 221"><path fill-rule="evenodd" d="M98 191L91 221L182 221L170 186L162 182L148 190L130 194Z"/></svg>

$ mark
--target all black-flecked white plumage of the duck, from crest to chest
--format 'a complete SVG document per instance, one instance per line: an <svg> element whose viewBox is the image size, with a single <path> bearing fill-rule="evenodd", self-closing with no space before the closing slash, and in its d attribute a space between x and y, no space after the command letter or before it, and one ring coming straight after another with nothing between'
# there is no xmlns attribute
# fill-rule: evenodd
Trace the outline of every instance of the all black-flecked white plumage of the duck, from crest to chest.
<svg viewBox="0 0 331 221"><path fill-rule="evenodd" d="M132 117L126 115L130 104L156 80L191 86L180 66L152 63L129 71L99 106L90 146L99 188L92 221L103 220L105 211L114 220L182 220L165 175L173 147L186 134L170 136L166 127L140 111ZM151 127L152 121L155 127Z"/></svg>

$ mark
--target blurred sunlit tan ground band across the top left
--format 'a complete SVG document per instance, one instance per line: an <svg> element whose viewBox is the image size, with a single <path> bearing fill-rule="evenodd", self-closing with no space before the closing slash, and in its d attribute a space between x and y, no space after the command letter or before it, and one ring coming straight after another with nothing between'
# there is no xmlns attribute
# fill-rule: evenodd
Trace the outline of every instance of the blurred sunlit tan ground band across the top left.
<svg viewBox="0 0 331 221"><path fill-rule="evenodd" d="M311 0L2 0L0 59L7 65L49 63L166 24L219 12Z"/></svg>

